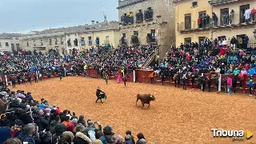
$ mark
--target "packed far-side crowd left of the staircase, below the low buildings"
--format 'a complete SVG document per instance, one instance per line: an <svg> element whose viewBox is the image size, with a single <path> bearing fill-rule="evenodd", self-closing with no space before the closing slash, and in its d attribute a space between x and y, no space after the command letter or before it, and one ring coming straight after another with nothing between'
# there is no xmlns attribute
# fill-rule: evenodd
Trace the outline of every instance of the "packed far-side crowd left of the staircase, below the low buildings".
<svg viewBox="0 0 256 144"><path fill-rule="evenodd" d="M63 76L67 72L84 72L85 68L108 68L117 69L140 68L145 60L154 53L155 45L133 45L118 46L110 48L110 45L102 45L78 51L73 49L70 55L60 56L55 50L48 53L37 53L36 51L14 51L0 53L0 76L17 74L19 77L30 75L30 72L37 72L38 75L52 72L61 73ZM86 66L85 66L86 65Z"/></svg>

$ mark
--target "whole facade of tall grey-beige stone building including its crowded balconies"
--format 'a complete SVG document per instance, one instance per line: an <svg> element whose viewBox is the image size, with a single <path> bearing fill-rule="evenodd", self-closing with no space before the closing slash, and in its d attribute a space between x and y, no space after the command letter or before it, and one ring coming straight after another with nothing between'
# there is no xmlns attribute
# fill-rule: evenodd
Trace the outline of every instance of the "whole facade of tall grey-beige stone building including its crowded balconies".
<svg viewBox="0 0 256 144"><path fill-rule="evenodd" d="M117 9L121 44L158 43L160 58L175 44L175 8L171 0L119 0Z"/></svg>

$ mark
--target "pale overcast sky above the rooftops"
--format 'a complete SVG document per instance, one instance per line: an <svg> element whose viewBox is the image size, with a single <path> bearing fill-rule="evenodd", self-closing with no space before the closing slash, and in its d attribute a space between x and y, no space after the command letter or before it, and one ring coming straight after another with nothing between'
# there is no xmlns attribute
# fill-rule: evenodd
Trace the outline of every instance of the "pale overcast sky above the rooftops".
<svg viewBox="0 0 256 144"><path fill-rule="evenodd" d="M118 0L0 0L0 33L118 21ZM34 25L34 26L33 26Z"/></svg>

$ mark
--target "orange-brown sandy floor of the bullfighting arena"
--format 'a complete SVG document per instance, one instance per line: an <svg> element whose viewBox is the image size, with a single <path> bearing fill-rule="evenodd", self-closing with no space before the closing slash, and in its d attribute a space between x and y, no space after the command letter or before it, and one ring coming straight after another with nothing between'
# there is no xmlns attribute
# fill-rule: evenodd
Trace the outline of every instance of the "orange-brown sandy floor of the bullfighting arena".
<svg viewBox="0 0 256 144"><path fill-rule="evenodd" d="M106 91L105 103L94 103L95 91L100 86ZM35 99L42 97L50 104L57 104L62 111L68 109L86 119L100 121L103 126L114 126L116 134L125 135L131 130L134 137L138 132L145 135L149 144L170 143L254 143L256 136L242 142L232 138L213 138L212 128L224 130L250 130L256 134L256 99L247 95L224 95L215 92L182 90L160 85L64 77L44 80L38 84L17 85L14 90L32 92ZM148 110L142 110L138 93L152 93L156 97ZM245 134L246 135L246 134Z"/></svg>

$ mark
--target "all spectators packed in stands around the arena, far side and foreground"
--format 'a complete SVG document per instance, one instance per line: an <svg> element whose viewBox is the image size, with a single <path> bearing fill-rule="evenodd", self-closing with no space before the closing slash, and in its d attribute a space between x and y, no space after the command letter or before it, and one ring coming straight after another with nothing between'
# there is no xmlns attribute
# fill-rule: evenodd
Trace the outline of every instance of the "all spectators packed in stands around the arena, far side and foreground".
<svg viewBox="0 0 256 144"><path fill-rule="evenodd" d="M162 80L171 77L175 87L179 87L182 81L183 89L186 89L187 79L190 78L193 88L195 84L199 89L202 88L202 91L205 91L206 85L208 91L211 91L210 79L214 79L218 86L218 76L209 78L202 76L202 73L233 74L232 79L226 76L224 80L225 92L230 95L231 88L235 93L237 81L240 81L242 87L243 75L256 75L256 47L248 46L248 41L245 37L241 43L240 38L236 40L233 37L229 46L226 39L218 41L206 38L200 44L181 44L178 48L169 49L162 64L154 66L154 72ZM71 55L67 56L60 56L55 50L49 50L48 53L2 52L0 76L16 74L18 80L18 77L23 79L22 77L30 72L48 73L48 76L51 72L61 75L71 72L71 75L79 75L87 67L99 71L131 70L141 68L156 47L157 45L121 45L112 49L110 45L102 45L82 52L73 49ZM154 74L150 74L151 83L153 78ZM14 77L12 80L16 81ZM251 90L256 90L255 84L252 79L246 84L251 95ZM122 139L122 136L114 134L113 126L105 126L102 129L99 122L90 119L86 121L84 115L77 117L68 110L61 111L55 105L50 106L45 99L41 99L41 102L35 101L30 92L10 91L3 86L0 92L0 143L135 143L130 130L126 131L126 136ZM143 134L139 133L137 137L136 144L146 143Z"/></svg>

